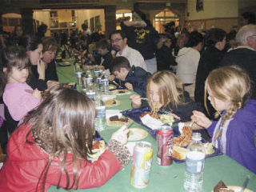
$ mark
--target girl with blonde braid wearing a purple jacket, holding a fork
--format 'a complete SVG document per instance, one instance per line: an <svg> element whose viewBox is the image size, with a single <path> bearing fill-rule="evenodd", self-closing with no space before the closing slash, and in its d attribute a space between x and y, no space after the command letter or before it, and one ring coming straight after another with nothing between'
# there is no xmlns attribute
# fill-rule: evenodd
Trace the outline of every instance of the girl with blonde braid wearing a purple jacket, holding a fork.
<svg viewBox="0 0 256 192"><path fill-rule="evenodd" d="M205 92L221 118L210 121L198 111L191 118L207 129L215 147L256 173L256 101L249 99L249 76L238 66L218 68L206 78Z"/></svg>

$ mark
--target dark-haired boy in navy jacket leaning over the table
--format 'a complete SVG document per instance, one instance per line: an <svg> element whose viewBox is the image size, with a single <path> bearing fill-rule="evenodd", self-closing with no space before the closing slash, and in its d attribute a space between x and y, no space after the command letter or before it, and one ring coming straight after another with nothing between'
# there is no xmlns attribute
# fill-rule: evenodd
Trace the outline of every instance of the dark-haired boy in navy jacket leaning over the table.
<svg viewBox="0 0 256 192"><path fill-rule="evenodd" d="M125 57L114 58L112 63L112 73L122 81L122 86L128 90L134 90L142 97L146 96L146 81L150 73L139 66L130 67L130 62Z"/></svg>

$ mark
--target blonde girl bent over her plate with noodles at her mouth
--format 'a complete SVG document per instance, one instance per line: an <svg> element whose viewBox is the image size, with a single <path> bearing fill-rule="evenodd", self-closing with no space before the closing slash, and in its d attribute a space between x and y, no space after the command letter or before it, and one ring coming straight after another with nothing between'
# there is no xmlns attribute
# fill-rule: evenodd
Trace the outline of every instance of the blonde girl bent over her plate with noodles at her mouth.
<svg viewBox="0 0 256 192"><path fill-rule="evenodd" d="M150 106L155 103L159 110L166 110L180 118L182 122L189 122L193 110L201 110L201 107L193 102L187 92L184 92L182 81L170 70L158 71L148 79L146 86L146 98L132 95L134 108ZM155 107L155 106L154 106Z"/></svg>

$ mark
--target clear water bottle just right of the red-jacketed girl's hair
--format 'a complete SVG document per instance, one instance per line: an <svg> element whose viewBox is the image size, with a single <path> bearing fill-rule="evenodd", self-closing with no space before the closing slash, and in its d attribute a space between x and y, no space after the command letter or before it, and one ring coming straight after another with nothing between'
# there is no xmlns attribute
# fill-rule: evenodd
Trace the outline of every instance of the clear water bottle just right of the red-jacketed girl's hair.
<svg viewBox="0 0 256 192"><path fill-rule="evenodd" d="M106 122L106 106L102 105L101 95L97 94L95 98L96 117L94 122L95 130L101 131L105 129Z"/></svg>

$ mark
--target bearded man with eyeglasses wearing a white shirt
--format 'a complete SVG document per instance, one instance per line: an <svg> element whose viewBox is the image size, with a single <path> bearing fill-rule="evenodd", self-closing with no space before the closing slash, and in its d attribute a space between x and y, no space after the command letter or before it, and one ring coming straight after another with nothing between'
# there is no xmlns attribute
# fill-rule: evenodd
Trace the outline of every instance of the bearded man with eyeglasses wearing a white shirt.
<svg viewBox="0 0 256 192"><path fill-rule="evenodd" d="M116 57L123 56L128 59L130 66L139 66L146 70L142 54L127 45L126 34L122 30L115 30L110 34L111 46L117 51Z"/></svg>

